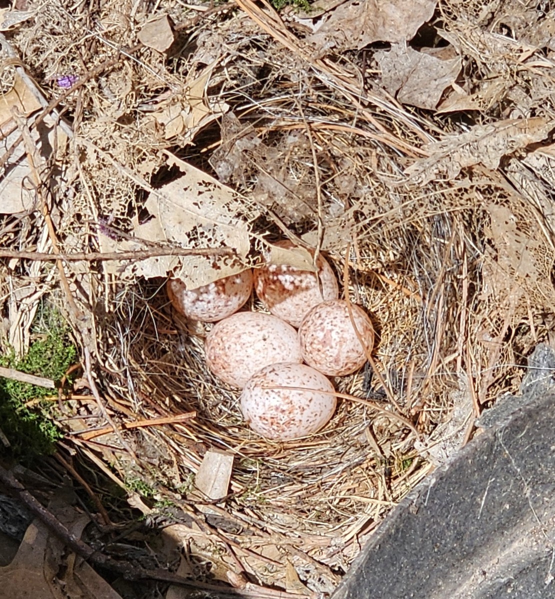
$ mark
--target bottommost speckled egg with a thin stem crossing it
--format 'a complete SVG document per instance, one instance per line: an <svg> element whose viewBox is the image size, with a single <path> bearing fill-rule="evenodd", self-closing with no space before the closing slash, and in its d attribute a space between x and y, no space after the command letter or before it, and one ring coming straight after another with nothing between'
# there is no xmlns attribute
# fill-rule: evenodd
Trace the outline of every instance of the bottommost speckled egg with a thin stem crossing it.
<svg viewBox="0 0 555 599"><path fill-rule="evenodd" d="M241 394L243 418L269 439L294 439L319 431L335 408L333 385L305 364L267 366L252 376Z"/></svg>

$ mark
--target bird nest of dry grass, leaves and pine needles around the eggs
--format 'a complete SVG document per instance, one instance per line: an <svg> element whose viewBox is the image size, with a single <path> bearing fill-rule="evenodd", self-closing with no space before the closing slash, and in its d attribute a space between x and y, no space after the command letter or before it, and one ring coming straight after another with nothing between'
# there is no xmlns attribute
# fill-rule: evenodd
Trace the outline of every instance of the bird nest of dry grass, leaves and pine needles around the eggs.
<svg viewBox="0 0 555 599"><path fill-rule="evenodd" d="M182 570L192 583L331 592L550 335L553 106L540 92L551 67L533 41L524 57L524 42L478 36L493 92L485 50L467 43L487 11L441 2L429 26L462 74L432 110L406 87L405 103L384 90L376 44L340 53L332 36L309 52L310 15L285 22L251 0L163 0L156 18L117 7L49 2L2 42L16 75L41 81L22 85L46 96L39 114L64 142L46 154L28 135L37 111L16 117L32 185L1 220L2 344L25 353L38 302L63 308L82 376L51 413L59 452L93 461L189 561L210 562ZM511 79L511 60L527 83ZM513 107L526 86L536 104ZM326 255L343 297L372 315L376 347L334 380L322 431L278 443L243 422L237 390L206 368L210 325L177 314L165 280L257 267L279 238ZM195 485L212 450L233 458L216 499Z"/></svg>

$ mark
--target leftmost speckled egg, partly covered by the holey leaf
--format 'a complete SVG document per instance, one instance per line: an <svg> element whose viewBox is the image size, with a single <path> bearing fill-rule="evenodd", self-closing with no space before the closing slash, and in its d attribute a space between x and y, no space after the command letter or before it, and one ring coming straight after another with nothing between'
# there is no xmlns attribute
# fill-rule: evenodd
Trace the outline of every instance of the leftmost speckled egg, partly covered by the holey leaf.
<svg viewBox="0 0 555 599"><path fill-rule="evenodd" d="M252 270L232 274L198 289L185 288L180 279L169 279L168 297L178 312L192 320L216 322L239 310L252 292Z"/></svg>

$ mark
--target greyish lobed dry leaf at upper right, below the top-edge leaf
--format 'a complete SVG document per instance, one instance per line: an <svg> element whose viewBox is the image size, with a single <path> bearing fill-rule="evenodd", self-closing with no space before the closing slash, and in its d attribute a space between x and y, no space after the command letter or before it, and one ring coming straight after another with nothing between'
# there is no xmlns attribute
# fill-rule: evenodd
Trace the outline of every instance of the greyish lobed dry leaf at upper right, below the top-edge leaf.
<svg viewBox="0 0 555 599"><path fill-rule="evenodd" d="M376 52L382 84L402 104L433 110L446 87L460 72L460 58L442 60L417 52L406 44L393 44L389 52Z"/></svg>

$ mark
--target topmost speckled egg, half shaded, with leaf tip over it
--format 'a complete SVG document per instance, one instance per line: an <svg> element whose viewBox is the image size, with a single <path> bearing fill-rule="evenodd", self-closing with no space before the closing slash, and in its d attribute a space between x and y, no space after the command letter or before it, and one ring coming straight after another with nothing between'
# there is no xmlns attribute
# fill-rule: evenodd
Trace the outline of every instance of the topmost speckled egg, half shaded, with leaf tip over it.
<svg viewBox="0 0 555 599"><path fill-rule="evenodd" d="M295 247L291 241L278 241L278 247ZM313 253L313 252L312 252ZM261 302L272 314L292 326L299 326L304 315L316 304L339 297L337 279L327 260L318 256L316 273L288 266L269 264L254 271L254 288Z"/></svg>

